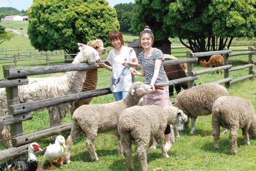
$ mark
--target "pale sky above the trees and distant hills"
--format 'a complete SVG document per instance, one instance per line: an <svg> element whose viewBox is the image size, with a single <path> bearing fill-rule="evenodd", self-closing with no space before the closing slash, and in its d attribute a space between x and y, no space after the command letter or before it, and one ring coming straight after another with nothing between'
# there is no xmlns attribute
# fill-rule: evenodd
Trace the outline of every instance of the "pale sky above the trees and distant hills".
<svg viewBox="0 0 256 171"><path fill-rule="evenodd" d="M134 0L108 0L111 6L115 6L118 3L129 3ZM13 7L18 10L27 10L31 6L33 0L0 0L0 7Z"/></svg>

